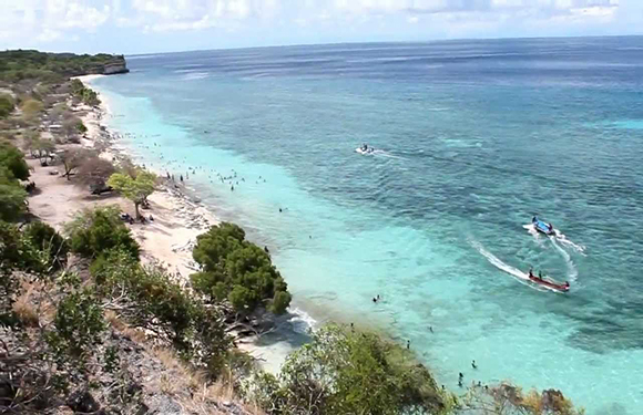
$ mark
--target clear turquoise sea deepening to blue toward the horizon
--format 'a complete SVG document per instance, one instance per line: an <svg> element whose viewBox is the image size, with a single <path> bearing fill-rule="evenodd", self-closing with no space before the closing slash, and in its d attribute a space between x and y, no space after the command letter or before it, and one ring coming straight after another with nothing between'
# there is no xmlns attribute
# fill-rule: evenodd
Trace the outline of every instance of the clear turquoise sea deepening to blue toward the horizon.
<svg viewBox="0 0 643 415"><path fill-rule="evenodd" d="M94 85L137 159L194 168L203 201L271 248L294 307L409 339L455 390L463 372L560 388L592 415L637 414L640 46L191 52L131 56L130 74ZM364 142L375 154L355 152ZM534 235L534 212L561 235ZM570 293L530 286L530 266Z"/></svg>

